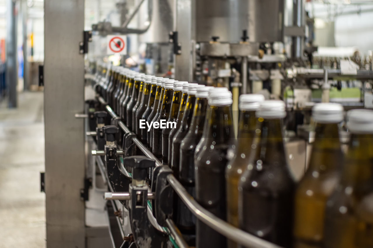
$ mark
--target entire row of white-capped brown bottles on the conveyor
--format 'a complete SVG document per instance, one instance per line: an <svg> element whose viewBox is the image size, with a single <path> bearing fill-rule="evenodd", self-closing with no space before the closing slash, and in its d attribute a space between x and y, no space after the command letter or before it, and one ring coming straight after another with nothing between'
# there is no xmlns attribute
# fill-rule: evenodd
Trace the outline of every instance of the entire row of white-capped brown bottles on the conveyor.
<svg viewBox="0 0 373 248"><path fill-rule="evenodd" d="M316 104L310 163L300 182L288 166L282 101L239 98L238 138L232 93L121 67L98 67L97 92L186 191L220 219L282 247L373 247L373 113L351 110L347 155L339 142L338 104ZM166 128L140 128L172 122ZM174 197L174 221L189 245L239 247Z"/></svg>

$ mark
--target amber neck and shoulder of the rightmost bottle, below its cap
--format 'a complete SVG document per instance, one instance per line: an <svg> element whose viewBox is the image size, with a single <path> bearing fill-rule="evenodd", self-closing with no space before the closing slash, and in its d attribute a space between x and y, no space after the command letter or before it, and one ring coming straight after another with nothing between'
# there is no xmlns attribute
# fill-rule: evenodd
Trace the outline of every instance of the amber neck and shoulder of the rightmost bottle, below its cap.
<svg viewBox="0 0 373 248"><path fill-rule="evenodd" d="M341 184L352 186L362 197L373 191L373 134L352 133L341 175Z"/></svg>

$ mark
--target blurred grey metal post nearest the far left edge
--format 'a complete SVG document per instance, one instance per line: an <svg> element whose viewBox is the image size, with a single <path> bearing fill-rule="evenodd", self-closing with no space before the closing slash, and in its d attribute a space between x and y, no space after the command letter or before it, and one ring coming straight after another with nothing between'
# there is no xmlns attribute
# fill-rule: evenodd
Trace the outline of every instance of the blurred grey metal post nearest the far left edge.
<svg viewBox="0 0 373 248"><path fill-rule="evenodd" d="M9 108L16 108L18 83L16 4L13 0L7 0L6 2L6 83L8 85Z"/></svg>

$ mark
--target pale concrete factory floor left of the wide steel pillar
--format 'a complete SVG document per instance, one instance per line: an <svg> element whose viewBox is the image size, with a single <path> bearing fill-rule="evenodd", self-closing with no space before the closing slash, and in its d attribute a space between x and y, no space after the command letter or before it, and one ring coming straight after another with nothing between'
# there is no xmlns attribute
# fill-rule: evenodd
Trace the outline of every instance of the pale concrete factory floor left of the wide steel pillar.
<svg viewBox="0 0 373 248"><path fill-rule="evenodd" d="M0 248L46 246L43 101L25 92L16 109L0 102Z"/></svg>

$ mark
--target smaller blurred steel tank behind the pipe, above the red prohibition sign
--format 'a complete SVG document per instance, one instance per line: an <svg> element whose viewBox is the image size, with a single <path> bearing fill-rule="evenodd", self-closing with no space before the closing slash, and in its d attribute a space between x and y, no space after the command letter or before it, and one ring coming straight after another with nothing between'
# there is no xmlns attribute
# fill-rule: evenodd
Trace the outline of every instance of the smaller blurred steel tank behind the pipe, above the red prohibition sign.
<svg viewBox="0 0 373 248"><path fill-rule="evenodd" d="M169 32L173 30L173 2L174 0L148 0L153 3L151 24L148 31L140 35L140 41L146 43L167 43L169 41ZM145 26L148 20L148 3L142 4L140 9L140 25Z"/></svg>

